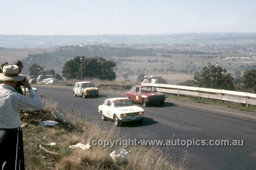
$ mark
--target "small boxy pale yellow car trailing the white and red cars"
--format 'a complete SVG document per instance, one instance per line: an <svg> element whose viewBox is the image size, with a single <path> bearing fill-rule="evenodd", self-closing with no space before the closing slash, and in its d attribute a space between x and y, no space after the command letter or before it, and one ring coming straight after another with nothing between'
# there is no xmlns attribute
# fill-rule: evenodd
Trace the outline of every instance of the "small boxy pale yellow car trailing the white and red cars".
<svg viewBox="0 0 256 170"><path fill-rule="evenodd" d="M82 98L86 98L86 96L99 96L99 89L94 86L92 82L76 82L73 88L73 96L82 96Z"/></svg>

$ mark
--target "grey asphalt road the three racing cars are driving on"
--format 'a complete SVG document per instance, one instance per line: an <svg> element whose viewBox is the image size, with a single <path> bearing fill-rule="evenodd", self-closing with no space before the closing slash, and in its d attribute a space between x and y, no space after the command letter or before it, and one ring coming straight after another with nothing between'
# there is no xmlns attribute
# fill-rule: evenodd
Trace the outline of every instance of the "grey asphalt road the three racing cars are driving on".
<svg viewBox="0 0 256 170"><path fill-rule="evenodd" d="M38 86L42 98L51 98L76 116L99 123L105 130L115 128L123 139L244 140L244 146L159 147L170 162L188 169L256 169L256 113L218 106L167 99L164 106L143 107L141 125L125 123L114 127L103 122L98 105L105 99L125 96L124 92L100 91L98 98L74 98L73 87Z"/></svg>

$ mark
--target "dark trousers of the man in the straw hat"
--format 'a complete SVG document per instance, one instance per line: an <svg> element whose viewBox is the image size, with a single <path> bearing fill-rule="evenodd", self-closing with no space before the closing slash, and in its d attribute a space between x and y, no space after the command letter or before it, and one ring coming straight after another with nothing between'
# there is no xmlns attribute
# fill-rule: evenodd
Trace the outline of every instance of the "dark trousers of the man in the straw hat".
<svg viewBox="0 0 256 170"><path fill-rule="evenodd" d="M0 129L0 169L25 169L21 128Z"/></svg>

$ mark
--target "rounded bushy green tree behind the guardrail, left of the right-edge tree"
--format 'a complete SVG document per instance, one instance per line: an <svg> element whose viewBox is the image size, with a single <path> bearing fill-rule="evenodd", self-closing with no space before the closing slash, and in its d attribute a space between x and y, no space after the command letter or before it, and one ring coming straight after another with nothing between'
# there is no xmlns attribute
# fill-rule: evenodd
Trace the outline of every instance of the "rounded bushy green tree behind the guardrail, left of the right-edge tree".
<svg viewBox="0 0 256 170"><path fill-rule="evenodd" d="M221 66L208 65L198 76L194 76L194 80L199 87L234 90L233 78L226 72Z"/></svg>

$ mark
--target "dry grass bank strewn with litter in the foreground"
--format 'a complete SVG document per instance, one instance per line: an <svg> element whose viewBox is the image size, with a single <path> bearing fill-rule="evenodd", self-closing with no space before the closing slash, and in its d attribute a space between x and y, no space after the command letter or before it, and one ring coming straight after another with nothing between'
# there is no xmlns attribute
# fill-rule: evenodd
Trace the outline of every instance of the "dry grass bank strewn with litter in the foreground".
<svg viewBox="0 0 256 170"><path fill-rule="evenodd" d="M178 169L181 164L170 164L161 152L154 149L129 147L130 158L127 163L114 162L110 153L120 147L103 148L91 146L88 150L70 149L69 145L90 143L93 139L119 139L115 129L108 132L102 130L101 124L87 122L68 114L56 103L44 101L44 110L22 111L23 123L28 125L24 131L24 151L26 169ZM61 110L65 120L55 119L51 111ZM25 113L27 115L25 115ZM45 120L55 120L58 126L44 127L37 123ZM116 128L116 127L112 127ZM109 128L108 128L109 129ZM56 142L49 146L45 143ZM42 145L47 150L58 153L53 155L38 148Z"/></svg>

